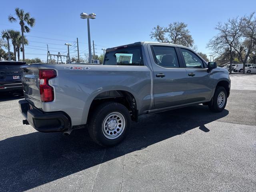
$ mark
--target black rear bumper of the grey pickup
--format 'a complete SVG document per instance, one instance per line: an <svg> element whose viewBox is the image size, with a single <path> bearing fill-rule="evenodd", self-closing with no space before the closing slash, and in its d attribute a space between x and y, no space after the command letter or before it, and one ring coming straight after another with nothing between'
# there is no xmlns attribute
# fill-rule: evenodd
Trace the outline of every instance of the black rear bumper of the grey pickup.
<svg viewBox="0 0 256 192"><path fill-rule="evenodd" d="M42 112L37 108L30 109L31 105L25 99L19 100L19 106L28 123L40 132L65 131L71 128L70 118L64 112Z"/></svg>

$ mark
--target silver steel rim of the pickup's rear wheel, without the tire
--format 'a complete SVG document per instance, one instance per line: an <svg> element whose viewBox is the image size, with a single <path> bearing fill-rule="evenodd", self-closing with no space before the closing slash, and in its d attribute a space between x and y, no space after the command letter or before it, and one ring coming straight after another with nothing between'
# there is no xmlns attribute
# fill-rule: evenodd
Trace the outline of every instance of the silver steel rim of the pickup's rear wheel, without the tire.
<svg viewBox="0 0 256 192"><path fill-rule="evenodd" d="M126 120L120 112L111 112L102 122L102 132L108 139L116 139L122 135Z"/></svg>

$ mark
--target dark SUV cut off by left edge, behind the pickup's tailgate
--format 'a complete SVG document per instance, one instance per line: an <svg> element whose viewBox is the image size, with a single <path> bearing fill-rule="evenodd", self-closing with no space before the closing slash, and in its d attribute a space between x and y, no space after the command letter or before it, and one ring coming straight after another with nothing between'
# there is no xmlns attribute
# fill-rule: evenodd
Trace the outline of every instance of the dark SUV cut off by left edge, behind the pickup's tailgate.
<svg viewBox="0 0 256 192"><path fill-rule="evenodd" d="M26 62L0 61L0 92L22 92L20 66Z"/></svg>

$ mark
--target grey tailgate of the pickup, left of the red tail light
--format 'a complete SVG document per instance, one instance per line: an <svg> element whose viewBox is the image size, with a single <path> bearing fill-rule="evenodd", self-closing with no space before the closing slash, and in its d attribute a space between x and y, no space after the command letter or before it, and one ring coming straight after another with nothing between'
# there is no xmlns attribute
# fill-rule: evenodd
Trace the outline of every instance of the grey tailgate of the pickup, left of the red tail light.
<svg viewBox="0 0 256 192"><path fill-rule="evenodd" d="M25 99L36 108L42 108L39 82L38 65L22 66L22 86Z"/></svg>

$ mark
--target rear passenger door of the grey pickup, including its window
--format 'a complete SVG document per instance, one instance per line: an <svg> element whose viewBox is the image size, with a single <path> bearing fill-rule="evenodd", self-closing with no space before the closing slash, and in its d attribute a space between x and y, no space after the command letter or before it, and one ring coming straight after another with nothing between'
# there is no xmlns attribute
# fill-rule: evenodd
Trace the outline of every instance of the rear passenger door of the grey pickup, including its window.
<svg viewBox="0 0 256 192"><path fill-rule="evenodd" d="M186 103L186 68L176 46L148 44L153 68L155 108L165 108Z"/></svg>

